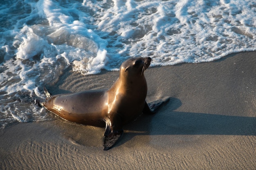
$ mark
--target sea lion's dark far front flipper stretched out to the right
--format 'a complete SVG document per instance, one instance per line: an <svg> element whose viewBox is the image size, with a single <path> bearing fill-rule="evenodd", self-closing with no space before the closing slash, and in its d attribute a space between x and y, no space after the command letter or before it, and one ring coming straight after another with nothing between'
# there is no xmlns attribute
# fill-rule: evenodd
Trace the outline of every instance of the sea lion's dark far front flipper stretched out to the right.
<svg viewBox="0 0 256 170"><path fill-rule="evenodd" d="M157 111L160 109L162 104L168 102L169 99L170 99L170 97L167 97L165 99L160 99L160 100L151 102L149 104L147 104L147 102L145 101L145 106L143 108L142 113L147 114L147 115L157 113Z"/></svg>

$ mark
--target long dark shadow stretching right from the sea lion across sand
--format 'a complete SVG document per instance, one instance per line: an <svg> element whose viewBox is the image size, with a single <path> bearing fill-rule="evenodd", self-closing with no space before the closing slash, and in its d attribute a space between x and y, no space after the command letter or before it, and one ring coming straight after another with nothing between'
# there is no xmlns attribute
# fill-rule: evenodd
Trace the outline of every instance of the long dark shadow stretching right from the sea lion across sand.
<svg viewBox="0 0 256 170"><path fill-rule="evenodd" d="M141 115L125 125L117 146L137 135L256 135L256 117L175 111L180 106L180 99L170 98L158 113Z"/></svg>

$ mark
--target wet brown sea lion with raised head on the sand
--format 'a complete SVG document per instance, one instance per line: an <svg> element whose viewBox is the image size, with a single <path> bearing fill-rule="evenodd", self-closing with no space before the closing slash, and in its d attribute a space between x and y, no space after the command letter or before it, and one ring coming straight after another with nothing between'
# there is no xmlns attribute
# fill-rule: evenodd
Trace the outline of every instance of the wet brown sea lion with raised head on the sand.
<svg viewBox="0 0 256 170"><path fill-rule="evenodd" d="M144 71L150 57L135 57L123 62L119 78L108 90L90 90L79 93L47 96L41 105L65 120L91 126L106 126L104 150L109 150L124 133L122 125L141 113L153 114L166 102L146 103L147 83Z"/></svg>

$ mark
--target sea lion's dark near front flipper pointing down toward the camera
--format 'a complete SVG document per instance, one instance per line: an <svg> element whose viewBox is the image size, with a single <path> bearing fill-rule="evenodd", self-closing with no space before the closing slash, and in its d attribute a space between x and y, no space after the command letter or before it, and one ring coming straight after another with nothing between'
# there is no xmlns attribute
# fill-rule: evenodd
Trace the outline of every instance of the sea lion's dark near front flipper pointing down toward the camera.
<svg viewBox="0 0 256 170"><path fill-rule="evenodd" d="M104 138L104 149L103 150L111 149L115 145L115 143L117 143L117 141L119 141L119 139L121 139L121 137L124 134L124 130L122 130L121 128L116 127L117 130L115 130L110 125L113 126L113 124L111 124L110 121L106 121L106 130L104 133L105 138Z"/></svg>

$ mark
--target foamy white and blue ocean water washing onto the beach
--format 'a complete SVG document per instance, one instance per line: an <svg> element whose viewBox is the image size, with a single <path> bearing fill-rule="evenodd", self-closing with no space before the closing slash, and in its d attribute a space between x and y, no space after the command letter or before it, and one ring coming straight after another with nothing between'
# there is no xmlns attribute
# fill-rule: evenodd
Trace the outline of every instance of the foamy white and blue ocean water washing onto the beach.
<svg viewBox="0 0 256 170"><path fill-rule="evenodd" d="M254 51L255 16L254 0L1 0L0 128L46 120L38 87L70 66L97 74L129 57L166 66Z"/></svg>

